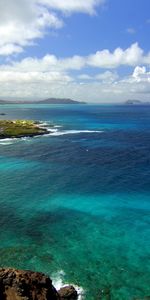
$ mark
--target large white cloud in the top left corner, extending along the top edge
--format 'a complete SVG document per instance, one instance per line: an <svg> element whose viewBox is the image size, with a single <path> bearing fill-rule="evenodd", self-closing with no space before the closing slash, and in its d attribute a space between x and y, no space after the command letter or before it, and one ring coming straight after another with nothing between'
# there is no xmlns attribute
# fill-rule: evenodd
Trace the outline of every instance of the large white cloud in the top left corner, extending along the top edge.
<svg viewBox="0 0 150 300"><path fill-rule="evenodd" d="M1 0L0 55L11 55L44 37L47 29L63 26L60 12L92 14L104 0Z"/></svg>

